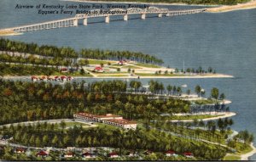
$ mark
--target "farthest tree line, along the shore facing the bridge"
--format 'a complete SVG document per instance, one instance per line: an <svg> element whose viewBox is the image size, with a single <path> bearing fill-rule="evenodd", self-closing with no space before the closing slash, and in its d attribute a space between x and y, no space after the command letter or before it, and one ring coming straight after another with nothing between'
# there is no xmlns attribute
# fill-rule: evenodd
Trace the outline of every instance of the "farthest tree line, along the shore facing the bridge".
<svg viewBox="0 0 256 162"><path fill-rule="evenodd" d="M55 47L48 45L39 46L35 43L10 41L8 39L3 38L0 39L0 51L10 51L13 53L31 53L42 55L45 57L54 57L61 59L77 59L79 57L82 57L84 59L129 59L146 64L163 64L162 59L158 59L154 56L144 53L87 48L81 49L79 52L77 52L71 47Z"/></svg>

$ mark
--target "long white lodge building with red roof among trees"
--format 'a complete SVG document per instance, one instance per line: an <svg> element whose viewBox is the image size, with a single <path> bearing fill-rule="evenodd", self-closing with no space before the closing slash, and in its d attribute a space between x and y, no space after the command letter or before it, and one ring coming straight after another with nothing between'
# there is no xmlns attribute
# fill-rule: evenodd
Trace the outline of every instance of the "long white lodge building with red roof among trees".
<svg viewBox="0 0 256 162"><path fill-rule="evenodd" d="M122 116L119 115L91 115L89 113L79 113L73 115L74 118L81 119L81 120L89 120L95 122L102 122L104 124L112 125L112 126L119 126L125 128L126 130L137 128L137 122L133 120L125 120Z"/></svg>

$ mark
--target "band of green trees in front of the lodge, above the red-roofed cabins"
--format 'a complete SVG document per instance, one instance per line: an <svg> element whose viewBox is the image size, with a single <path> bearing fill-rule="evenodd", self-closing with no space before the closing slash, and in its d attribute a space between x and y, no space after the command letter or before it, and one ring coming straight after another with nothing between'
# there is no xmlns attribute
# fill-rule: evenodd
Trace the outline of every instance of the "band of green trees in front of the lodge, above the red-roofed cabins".
<svg viewBox="0 0 256 162"><path fill-rule="evenodd" d="M135 131L124 131L113 126L96 128L73 126L67 130L64 128L65 126L60 124L38 123L29 126L2 127L0 130L4 135L14 137L13 142L35 147L111 147L119 148L119 155L123 155L125 149L143 149L161 153L172 149L177 154L191 152L201 159L219 159L226 152L224 148L212 144L174 137L154 129L138 128Z"/></svg>

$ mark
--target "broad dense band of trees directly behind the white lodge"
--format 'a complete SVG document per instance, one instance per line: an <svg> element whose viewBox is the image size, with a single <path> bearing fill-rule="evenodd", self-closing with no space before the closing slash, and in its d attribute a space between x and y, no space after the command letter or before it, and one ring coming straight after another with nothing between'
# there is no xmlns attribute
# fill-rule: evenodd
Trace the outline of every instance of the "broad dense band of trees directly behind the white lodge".
<svg viewBox="0 0 256 162"><path fill-rule="evenodd" d="M26 120L73 118L78 112L122 115L130 120L153 120L161 113L188 113L189 101L150 99L124 93L122 81L50 82L0 80L1 124Z"/></svg>

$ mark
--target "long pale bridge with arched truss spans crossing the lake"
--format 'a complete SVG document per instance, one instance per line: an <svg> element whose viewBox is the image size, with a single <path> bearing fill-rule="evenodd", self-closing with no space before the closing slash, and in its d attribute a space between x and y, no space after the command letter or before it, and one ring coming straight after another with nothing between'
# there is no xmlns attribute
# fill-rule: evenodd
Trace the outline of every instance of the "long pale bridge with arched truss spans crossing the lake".
<svg viewBox="0 0 256 162"><path fill-rule="evenodd" d="M121 9L121 8L113 8L110 10L90 10L86 14L76 14L73 18L62 19L62 20L52 20L38 24L32 25L22 25L13 28L6 28L3 30L8 31L15 31L15 32L25 32L25 31L40 31L40 30L48 30L48 29L55 29L61 27L73 27L79 25L79 20L83 20L83 25L87 25L87 20L90 18L98 18L98 17L105 17L105 23L110 22L110 16L115 15L123 15L125 21L128 20L128 16L131 14L141 14L141 19L146 19L146 14L158 14L158 17L162 17L163 15L169 16L176 16L176 15L183 15L183 14L197 14L206 11L205 8L201 9L189 9L189 10L176 10L172 11L167 8L156 8L156 7L149 7L149 8L128 8L128 9ZM3 31L1 30L1 31Z"/></svg>

